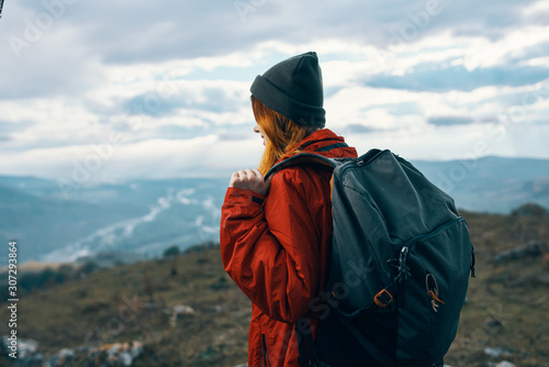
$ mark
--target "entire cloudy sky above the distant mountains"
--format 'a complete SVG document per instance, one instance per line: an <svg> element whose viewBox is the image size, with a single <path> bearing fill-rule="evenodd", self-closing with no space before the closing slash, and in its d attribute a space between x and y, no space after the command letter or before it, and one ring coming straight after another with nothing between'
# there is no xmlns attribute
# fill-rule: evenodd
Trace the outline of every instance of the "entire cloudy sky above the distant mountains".
<svg viewBox="0 0 549 367"><path fill-rule="evenodd" d="M250 82L307 51L360 153L549 158L548 1L5 0L0 174L255 167Z"/></svg>

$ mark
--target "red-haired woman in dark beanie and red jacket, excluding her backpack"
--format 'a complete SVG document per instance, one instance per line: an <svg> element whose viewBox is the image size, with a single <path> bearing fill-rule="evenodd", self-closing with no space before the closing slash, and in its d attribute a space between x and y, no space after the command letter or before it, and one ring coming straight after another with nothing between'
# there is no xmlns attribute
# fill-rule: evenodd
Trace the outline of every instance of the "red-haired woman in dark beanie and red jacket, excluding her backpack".
<svg viewBox="0 0 549 367"><path fill-rule="evenodd" d="M251 85L265 153L259 169L234 173L222 208L225 270L253 302L248 366L299 366L294 323L316 316L311 301L327 275L332 241L330 173L290 167L264 180L296 153L357 157L343 137L323 129L323 85L315 53L283 60Z"/></svg>

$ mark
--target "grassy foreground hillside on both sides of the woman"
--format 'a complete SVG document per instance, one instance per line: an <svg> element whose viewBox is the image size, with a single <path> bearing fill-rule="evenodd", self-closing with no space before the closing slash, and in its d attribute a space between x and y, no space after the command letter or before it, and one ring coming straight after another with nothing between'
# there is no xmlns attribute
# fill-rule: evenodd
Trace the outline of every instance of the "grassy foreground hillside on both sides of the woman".
<svg viewBox="0 0 549 367"><path fill-rule="evenodd" d="M524 205L511 215L463 215L477 278L446 363L549 366L549 214ZM236 366L246 360L250 303L224 273L219 247L209 246L33 291L19 315L18 335L36 341L46 359L65 355L59 366L97 366L89 360L107 352L91 346L132 341L143 343L133 366ZM0 318L8 320L5 303Z"/></svg>

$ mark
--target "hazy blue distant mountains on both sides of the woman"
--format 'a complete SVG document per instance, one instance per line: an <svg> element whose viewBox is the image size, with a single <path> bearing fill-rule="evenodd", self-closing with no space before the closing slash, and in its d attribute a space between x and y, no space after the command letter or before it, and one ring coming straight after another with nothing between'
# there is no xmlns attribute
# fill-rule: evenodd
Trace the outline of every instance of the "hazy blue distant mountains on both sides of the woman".
<svg viewBox="0 0 549 367"><path fill-rule="evenodd" d="M549 208L549 160L412 163L459 209L509 213L526 202ZM184 249L219 240L226 185L226 177L134 180L78 187L66 199L55 180L0 176L0 243L18 240L22 262L110 252L148 258L173 244Z"/></svg>

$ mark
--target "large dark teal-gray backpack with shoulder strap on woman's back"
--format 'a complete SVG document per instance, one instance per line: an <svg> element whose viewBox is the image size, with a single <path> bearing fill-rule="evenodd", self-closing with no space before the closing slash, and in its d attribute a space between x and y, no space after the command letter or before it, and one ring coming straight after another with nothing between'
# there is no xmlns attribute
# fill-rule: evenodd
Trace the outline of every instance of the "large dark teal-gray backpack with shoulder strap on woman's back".
<svg viewBox="0 0 549 367"><path fill-rule="evenodd" d="M295 324L301 366L441 366L458 330L474 252L453 200L407 160L294 155L333 169L328 280L311 302L320 323Z"/></svg>

